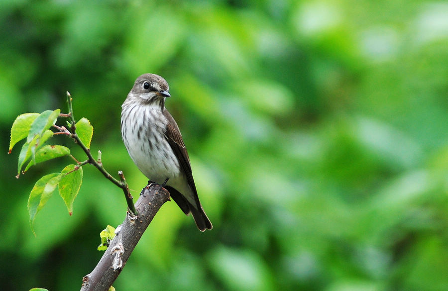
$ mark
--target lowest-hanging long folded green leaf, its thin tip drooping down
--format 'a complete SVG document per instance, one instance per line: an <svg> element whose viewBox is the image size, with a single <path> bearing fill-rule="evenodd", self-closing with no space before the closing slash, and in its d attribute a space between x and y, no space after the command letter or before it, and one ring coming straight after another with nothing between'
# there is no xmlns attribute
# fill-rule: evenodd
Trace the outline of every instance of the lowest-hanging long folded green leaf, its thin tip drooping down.
<svg viewBox="0 0 448 291"><path fill-rule="evenodd" d="M48 174L37 180L28 198L29 223L34 233L34 218L37 212L47 203L61 179L60 173Z"/></svg>

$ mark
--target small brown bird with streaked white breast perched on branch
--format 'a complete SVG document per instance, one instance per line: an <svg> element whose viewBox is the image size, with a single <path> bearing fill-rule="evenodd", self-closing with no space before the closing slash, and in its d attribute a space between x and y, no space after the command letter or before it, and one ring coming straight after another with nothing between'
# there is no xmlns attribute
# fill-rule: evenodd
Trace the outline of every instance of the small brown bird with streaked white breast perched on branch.
<svg viewBox="0 0 448 291"><path fill-rule="evenodd" d="M140 172L168 190L182 211L193 215L200 231L212 229L199 201L179 126L165 108L168 97L164 78L149 73L139 76L121 105L121 137Z"/></svg>

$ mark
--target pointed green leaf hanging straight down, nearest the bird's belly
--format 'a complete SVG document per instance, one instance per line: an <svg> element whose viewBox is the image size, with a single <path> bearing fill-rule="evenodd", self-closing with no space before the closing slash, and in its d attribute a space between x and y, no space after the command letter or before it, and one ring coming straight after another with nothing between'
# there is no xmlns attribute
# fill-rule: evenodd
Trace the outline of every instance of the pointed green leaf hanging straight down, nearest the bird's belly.
<svg viewBox="0 0 448 291"><path fill-rule="evenodd" d="M69 214L72 215L73 201L75 201L76 195L81 188L81 183L83 183L83 168L68 165L62 170L62 174L61 181L59 181L59 194L64 199Z"/></svg>

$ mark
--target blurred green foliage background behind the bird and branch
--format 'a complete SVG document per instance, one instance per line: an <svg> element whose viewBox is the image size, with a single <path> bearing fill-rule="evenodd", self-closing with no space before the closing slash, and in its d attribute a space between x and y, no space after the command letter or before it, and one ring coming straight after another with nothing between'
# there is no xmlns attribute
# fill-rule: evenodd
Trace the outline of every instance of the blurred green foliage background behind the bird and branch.
<svg viewBox="0 0 448 291"><path fill-rule="evenodd" d="M122 144L120 105L148 72L171 86L214 229L166 203L116 290L448 290L447 2L2 0L3 290L78 290L100 231L126 211L85 166L73 215L55 192L34 236L28 194L72 160L15 179L15 117L66 112L69 91L92 151L136 199L147 179ZM63 136L50 143L84 159Z"/></svg>

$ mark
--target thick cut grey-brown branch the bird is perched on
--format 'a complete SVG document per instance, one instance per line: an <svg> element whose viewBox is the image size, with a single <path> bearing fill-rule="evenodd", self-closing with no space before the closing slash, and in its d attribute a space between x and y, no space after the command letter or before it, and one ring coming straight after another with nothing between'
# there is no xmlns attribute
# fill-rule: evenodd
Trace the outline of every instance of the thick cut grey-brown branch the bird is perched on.
<svg viewBox="0 0 448 291"><path fill-rule="evenodd" d="M109 290L152 218L168 200L170 200L170 194L160 185L149 184L142 190L142 194L135 203L138 215L127 211L121 229L113 238L100 262L92 273L83 278L81 291Z"/></svg>

